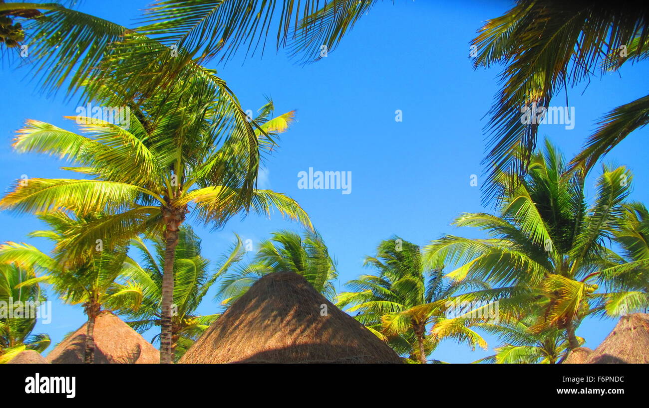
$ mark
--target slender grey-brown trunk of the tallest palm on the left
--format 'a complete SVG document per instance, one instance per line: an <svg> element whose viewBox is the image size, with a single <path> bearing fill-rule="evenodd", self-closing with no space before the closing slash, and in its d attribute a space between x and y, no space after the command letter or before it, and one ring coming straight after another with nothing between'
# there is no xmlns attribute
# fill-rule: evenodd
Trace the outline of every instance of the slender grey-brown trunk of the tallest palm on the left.
<svg viewBox="0 0 649 408"><path fill-rule="evenodd" d="M175 231L174 231L175 230ZM165 231L164 267L162 275L162 313L160 317L160 364L173 362L171 339L171 306L173 304L173 262L178 245L178 227Z"/></svg>

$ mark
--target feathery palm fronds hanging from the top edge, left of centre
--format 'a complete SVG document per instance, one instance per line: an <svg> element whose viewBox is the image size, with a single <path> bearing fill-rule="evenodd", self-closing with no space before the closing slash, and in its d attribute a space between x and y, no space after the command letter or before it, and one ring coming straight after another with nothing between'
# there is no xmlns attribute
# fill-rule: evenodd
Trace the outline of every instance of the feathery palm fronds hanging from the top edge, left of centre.
<svg viewBox="0 0 649 408"><path fill-rule="evenodd" d="M305 60L317 59L321 45L336 48L342 36L372 8L377 0L329 0L321 5L306 0L219 1L160 0L147 10L149 25L141 31L166 45L186 49L201 60L222 53L221 60L234 56L239 47L254 54L276 32L276 47L291 41L293 54L304 52Z"/></svg>

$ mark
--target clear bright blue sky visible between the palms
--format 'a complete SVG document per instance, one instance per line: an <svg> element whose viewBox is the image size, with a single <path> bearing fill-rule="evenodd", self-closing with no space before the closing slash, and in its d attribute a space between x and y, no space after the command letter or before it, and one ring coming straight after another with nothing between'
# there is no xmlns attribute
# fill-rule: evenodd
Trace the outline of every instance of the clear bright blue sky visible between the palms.
<svg viewBox="0 0 649 408"><path fill-rule="evenodd" d="M297 123L284 133L280 149L266 162L261 187L273 188L297 199L312 217L339 269L337 289L361 273L363 258L372 255L381 240L398 234L425 245L447 233L478 237L470 229L450 227L459 212L489 211L480 203L485 136L482 128L493 95L498 90L498 67L472 69L469 42L482 23L508 10L508 1L397 1L379 4L363 17L339 48L323 60L302 67L284 51L269 49L263 58L235 58L227 65L208 64L238 95L244 109L256 110L265 96L275 101L276 113L297 109ZM146 1L85 1L80 10L123 25L134 19ZM569 89L576 126L541 126L572 156L594 129L594 121L616 106L646 95L647 64L625 66ZM620 78L621 75L621 78ZM18 155L10 149L14 131L25 119L38 119L73 129L62 119L74 115L77 103L62 96L45 98L29 81L27 69L0 70L0 185L10 185L22 174L29 177L74 177L59 170L55 159ZM585 91L584 91L585 89ZM583 92L583 95L582 95ZM555 102L565 104L560 95ZM402 111L402 122L395 111ZM609 153L606 161L625 164L635 175L632 199L649 202L647 130L636 131ZM297 187L300 171L352 172L351 194L341 190L305 190ZM594 181L593 181L594 183ZM592 186L593 183L590 183ZM42 225L30 216L0 213L0 240L25 241L27 232ZM282 221L249 216L234 218L221 231L194 225L203 240L203 254L212 259L225 251L237 232L254 244L278 229L297 229ZM49 245L27 240L42 249ZM51 335L53 344L84 323L80 306L61 304L53 295L53 322L38 323L34 333ZM199 312L214 313L212 293ZM587 321L577 334L594 348L615 321ZM151 339L154 333L146 334ZM450 363L468 363L491 354L495 339L487 337L488 351L444 341L432 354Z"/></svg>

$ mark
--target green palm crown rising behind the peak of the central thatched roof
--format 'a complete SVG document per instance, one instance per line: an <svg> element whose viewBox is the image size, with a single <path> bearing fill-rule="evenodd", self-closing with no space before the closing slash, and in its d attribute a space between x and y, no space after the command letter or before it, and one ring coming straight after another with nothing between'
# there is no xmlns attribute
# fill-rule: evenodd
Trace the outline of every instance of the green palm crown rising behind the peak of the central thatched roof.
<svg viewBox="0 0 649 408"><path fill-rule="evenodd" d="M223 304L232 304L259 278L273 272L297 273L327 299L336 297L332 282L338 276L336 262L320 234L304 231L300 236L293 231L278 231L273 232L271 239L260 243L252 262L221 279L217 299Z"/></svg>

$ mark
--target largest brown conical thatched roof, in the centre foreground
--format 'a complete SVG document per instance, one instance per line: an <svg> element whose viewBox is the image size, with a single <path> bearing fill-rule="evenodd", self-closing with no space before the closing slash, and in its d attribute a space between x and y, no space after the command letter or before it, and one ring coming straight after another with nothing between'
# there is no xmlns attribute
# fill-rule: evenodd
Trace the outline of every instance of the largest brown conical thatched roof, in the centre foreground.
<svg viewBox="0 0 649 408"><path fill-rule="evenodd" d="M321 315L326 305L326 315ZM296 273L270 273L180 363L400 363L395 352Z"/></svg>

